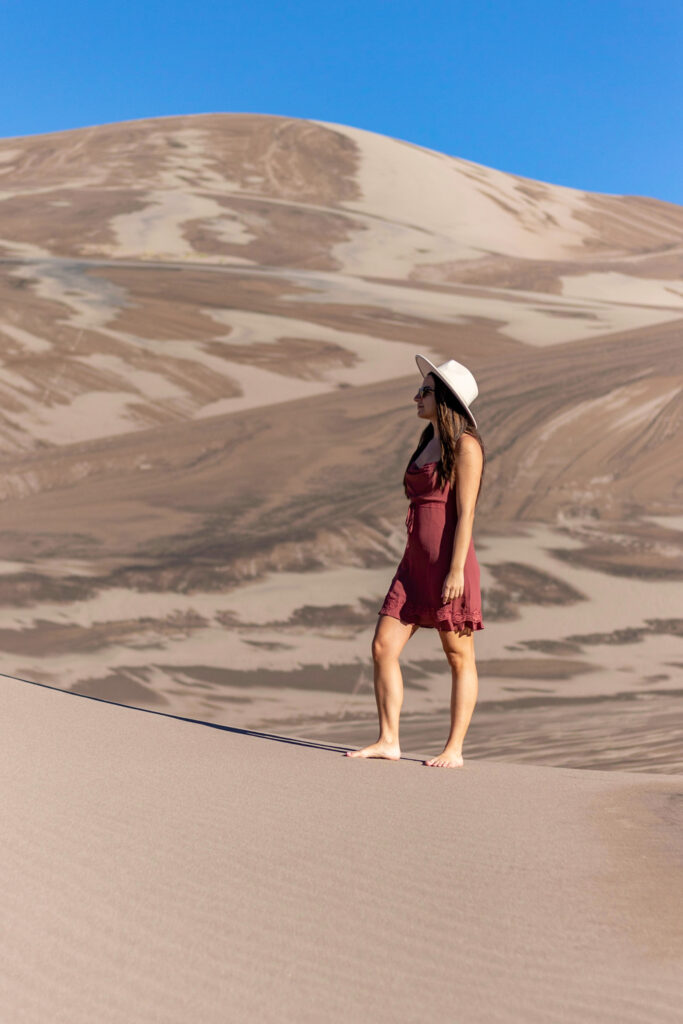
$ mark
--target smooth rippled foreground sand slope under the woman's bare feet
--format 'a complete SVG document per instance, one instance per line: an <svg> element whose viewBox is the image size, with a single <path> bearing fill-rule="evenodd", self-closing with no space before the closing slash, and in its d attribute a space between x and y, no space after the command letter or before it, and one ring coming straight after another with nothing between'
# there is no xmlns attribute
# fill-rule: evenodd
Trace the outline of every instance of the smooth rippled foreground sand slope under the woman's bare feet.
<svg viewBox="0 0 683 1024"><path fill-rule="evenodd" d="M680 779L351 761L0 683L12 1024L680 1019Z"/></svg>

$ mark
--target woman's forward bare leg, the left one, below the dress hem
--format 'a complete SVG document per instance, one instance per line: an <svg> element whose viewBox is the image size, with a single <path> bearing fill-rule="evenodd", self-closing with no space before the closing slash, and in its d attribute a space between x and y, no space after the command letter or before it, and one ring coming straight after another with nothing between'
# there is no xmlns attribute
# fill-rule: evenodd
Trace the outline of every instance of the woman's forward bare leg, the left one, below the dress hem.
<svg viewBox="0 0 683 1024"><path fill-rule="evenodd" d="M403 678L398 655L419 626L409 626L391 615L380 615L373 637L375 699L380 719L380 734L376 743L359 751L347 751L349 758L388 758L398 761L398 718L403 702Z"/></svg>

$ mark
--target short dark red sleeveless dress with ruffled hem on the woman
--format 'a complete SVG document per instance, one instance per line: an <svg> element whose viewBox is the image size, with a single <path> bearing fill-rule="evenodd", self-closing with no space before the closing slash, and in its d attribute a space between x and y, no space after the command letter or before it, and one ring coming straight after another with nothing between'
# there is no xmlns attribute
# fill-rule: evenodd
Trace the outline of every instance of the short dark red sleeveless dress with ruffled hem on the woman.
<svg viewBox="0 0 683 1024"><path fill-rule="evenodd" d="M456 493L446 483L438 488L436 462L423 466L412 462L403 476L411 504L405 518L408 543L391 581L379 615L391 615L401 623L460 631L463 627L482 630L479 563L470 541L465 559L462 597L445 604L441 588L451 568L451 556L458 523Z"/></svg>

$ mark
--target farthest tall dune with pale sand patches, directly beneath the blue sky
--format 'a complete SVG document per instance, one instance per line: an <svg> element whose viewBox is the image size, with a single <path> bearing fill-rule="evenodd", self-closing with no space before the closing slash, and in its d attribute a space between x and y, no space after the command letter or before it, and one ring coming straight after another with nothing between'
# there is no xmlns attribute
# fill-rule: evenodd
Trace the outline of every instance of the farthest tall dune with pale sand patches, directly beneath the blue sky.
<svg viewBox="0 0 683 1024"><path fill-rule="evenodd" d="M396 378L482 327L485 360L682 316L678 208L344 125L162 118L0 161L0 450Z"/></svg>

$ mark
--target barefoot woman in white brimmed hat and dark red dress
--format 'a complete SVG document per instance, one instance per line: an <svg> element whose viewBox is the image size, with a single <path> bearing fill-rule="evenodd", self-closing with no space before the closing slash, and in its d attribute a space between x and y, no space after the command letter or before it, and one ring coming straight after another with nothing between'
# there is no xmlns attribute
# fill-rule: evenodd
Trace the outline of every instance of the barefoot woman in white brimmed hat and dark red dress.
<svg viewBox="0 0 683 1024"><path fill-rule="evenodd" d="M418 417L428 423L403 476L411 499L408 544L373 640L380 735L376 743L346 755L400 758L403 681L398 655L423 626L438 630L453 675L451 732L442 753L423 764L459 768L478 690L473 634L483 629L472 526L485 456L469 409L479 392L470 371L455 359L435 367L423 355L415 358L423 383L414 400Z"/></svg>

